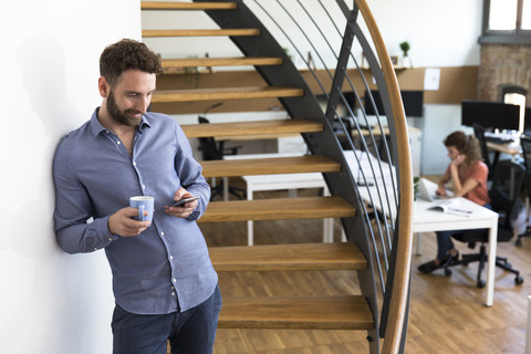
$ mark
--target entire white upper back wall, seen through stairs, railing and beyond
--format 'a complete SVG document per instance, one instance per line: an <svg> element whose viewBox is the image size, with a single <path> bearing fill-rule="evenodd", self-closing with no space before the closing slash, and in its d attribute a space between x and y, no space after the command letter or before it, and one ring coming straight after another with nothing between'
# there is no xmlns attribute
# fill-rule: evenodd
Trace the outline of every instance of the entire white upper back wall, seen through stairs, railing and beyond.
<svg viewBox="0 0 531 354"><path fill-rule="evenodd" d="M300 7L292 2L294 1L282 1L283 6L293 9L296 11L295 13L302 12ZM315 0L302 2L310 12L313 8L320 9ZM257 8L252 1L247 1L247 3L253 9ZM368 0L367 3L391 55L402 55L399 43L407 40L412 46L409 54L415 66L479 64L478 37L481 33L482 0ZM273 4L272 11L277 21L290 23L290 19L280 7ZM260 10L258 13L261 13ZM145 29L171 29L175 28L175 23L181 28L216 28L214 21L200 12L146 11L142 14L142 20ZM330 35L329 39L335 38L334 31L332 31L334 35ZM290 35L295 35L298 45L304 48L301 50L302 53L313 51L310 45L304 44L306 40L296 29L290 32ZM310 37L314 41L321 38L319 33ZM291 54L295 53L282 35L279 35L279 41L282 46L290 49ZM205 48L208 48L211 56L238 55L239 53L236 45L228 39L219 39L216 42L208 38L146 39L145 42L162 53L163 58L202 56ZM167 43L170 45L166 45ZM205 43L208 43L208 46ZM314 45L321 53L329 51L324 41L316 41ZM314 54L313 58L317 66L321 66L317 55Z"/></svg>

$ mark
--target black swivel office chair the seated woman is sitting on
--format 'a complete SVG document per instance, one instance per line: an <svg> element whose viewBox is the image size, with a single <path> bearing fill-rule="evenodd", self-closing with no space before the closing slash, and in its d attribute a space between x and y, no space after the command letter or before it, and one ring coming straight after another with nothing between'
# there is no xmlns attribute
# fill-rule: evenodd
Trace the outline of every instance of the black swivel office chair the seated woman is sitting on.
<svg viewBox="0 0 531 354"><path fill-rule="evenodd" d="M489 190L490 204L492 209L499 214L498 220L498 242L509 242L514 233L512 221L518 216L519 208L519 192L523 183L525 170L524 168L513 162L499 162L492 178L492 186ZM480 243L479 253L462 254L460 260L452 260L449 266L445 267L445 274L450 275L449 267L458 264L468 266L471 262L479 262L477 287L483 288L485 281L481 280L481 271L485 268L487 260L486 243L489 241L489 231L487 229L466 230L451 236L454 239L468 243L468 248L473 249L476 243ZM520 272L511 267L507 258L497 257L496 266L509 272L514 273L514 282L517 284L523 283L523 278Z"/></svg>

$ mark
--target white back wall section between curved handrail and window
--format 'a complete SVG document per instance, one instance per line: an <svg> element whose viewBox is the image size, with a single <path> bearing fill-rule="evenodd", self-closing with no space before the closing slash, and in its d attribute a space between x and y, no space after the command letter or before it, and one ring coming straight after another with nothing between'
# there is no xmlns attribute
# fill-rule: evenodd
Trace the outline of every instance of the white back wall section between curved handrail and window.
<svg viewBox="0 0 531 354"><path fill-rule="evenodd" d="M418 67L479 65L483 0L368 0L391 55L407 40Z"/></svg>

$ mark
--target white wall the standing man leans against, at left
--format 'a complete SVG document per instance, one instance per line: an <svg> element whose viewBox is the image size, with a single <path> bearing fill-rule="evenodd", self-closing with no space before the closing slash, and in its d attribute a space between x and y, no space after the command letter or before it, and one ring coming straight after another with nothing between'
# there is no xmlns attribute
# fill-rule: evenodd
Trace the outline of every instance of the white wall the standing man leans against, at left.
<svg viewBox="0 0 531 354"><path fill-rule="evenodd" d="M111 353L107 261L56 246L51 168L61 136L101 103L103 48L139 39L139 1L2 2L0 31L0 353Z"/></svg>

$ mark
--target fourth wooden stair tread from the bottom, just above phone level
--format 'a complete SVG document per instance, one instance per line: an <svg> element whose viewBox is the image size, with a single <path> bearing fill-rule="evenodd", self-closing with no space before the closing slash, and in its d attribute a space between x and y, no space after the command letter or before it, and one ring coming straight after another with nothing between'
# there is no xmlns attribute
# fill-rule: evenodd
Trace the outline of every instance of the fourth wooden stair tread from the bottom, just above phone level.
<svg viewBox="0 0 531 354"><path fill-rule="evenodd" d="M207 178L341 171L341 164L321 155L256 159L218 159L199 163L202 166L202 176Z"/></svg>

